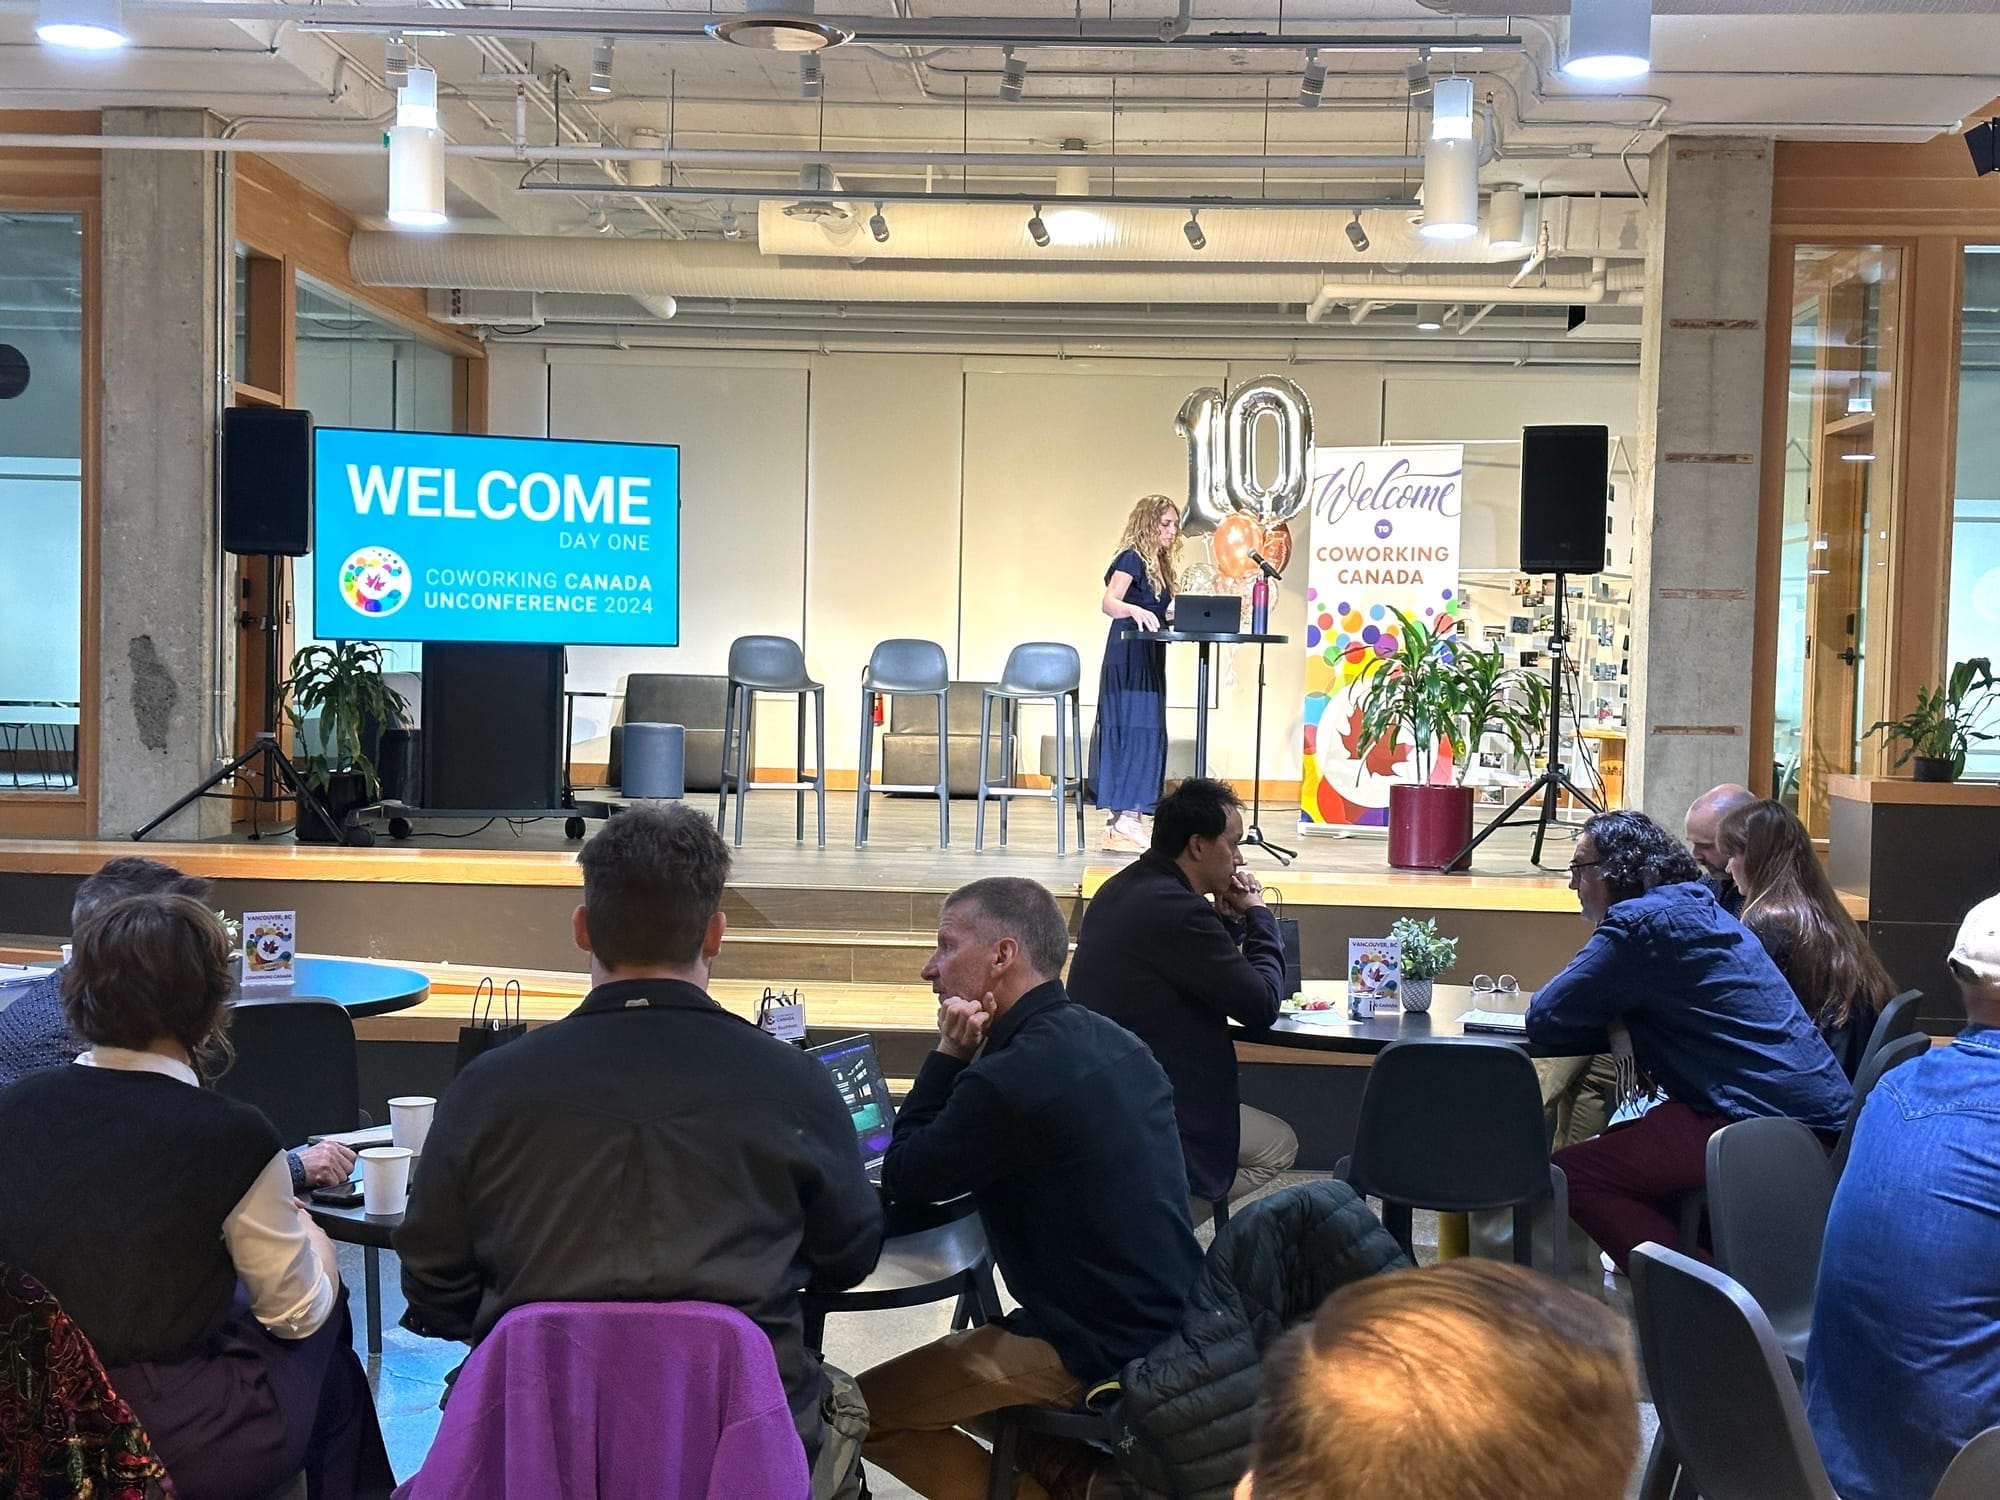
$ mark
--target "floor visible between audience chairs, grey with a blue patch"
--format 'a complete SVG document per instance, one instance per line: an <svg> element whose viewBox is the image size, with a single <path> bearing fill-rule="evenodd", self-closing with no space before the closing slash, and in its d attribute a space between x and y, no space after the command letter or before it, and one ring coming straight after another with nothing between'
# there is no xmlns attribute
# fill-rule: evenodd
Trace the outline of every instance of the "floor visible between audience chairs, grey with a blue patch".
<svg viewBox="0 0 2000 1500"><path fill-rule="evenodd" d="M1304 1182L1310 1174L1286 1174L1286 1182ZM1208 1230L1200 1230L1208 1238ZM1436 1218L1416 1216L1416 1248L1420 1260L1436 1256ZM354 1346L368 1364L368 1380L376 1394L376 1412L382 1418L382 1434L388 1438L388 1456L398 1478L408 1478L422 1464L436 1436L440 1410L438 1396L444 1390L444 1376L464 1360L464 1346L440 1344L430 1338L416 1338L396 1326L402 1316L402 1288L398 1286L396 1258L382 1256L382 1356L368 1360L366 1354L366 1310L362 1308L362 1252L356 1246L340 1246L340 1276L354 1296ZM1588 1278L1572 1278L1572 1284ZM1606 1278L1602 1288L1606 1302L1624 1316L1632 1314L1632 1296L1622 1280ZM900 1312L860 1312L842 1314L826 1326L826 1358L842 1370L866 1370L886 1358L912 1350L940 1338L950 1328L950 1304L940 1302L926 1308ZM1640 1402L1640 1452L1652 1442L1654 1414L1650 1402ZM868 1486L878 1500L908 1500L914 1492L896 1480L868 1472ZM1634 1474L1628 1500L1638 1494Z"/></svg>

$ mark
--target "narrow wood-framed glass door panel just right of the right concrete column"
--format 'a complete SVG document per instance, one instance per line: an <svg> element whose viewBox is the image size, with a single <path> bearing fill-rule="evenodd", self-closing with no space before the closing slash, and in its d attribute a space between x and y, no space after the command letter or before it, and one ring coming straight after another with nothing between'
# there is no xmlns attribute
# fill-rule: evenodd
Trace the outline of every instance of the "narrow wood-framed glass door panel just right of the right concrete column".
<svg viewBox="0 0 2000 1500"><path fill-rule="evenodd" d="M1778 598L1774 786L1816 838L1888 680L1902 252L1796 246Z"/></svg>

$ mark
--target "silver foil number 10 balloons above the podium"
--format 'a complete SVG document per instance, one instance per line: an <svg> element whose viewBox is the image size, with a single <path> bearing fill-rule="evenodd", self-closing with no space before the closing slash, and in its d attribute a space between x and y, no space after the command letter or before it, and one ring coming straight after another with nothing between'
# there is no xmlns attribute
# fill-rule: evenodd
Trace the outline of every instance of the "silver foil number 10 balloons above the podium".
<svg viewBox="0 0 2000 1500"><path fill-rule="evenodd" d="M1266 416L1278 428L1278 468L1268 486L1256 478L1258 428ZM1312 404L1290 380L1264 376L1228 400L1202 386L1180 404L1174 430L1188 442L1184 534L1206 536L1232 510L1276 526L1306 506Z"/></svg>

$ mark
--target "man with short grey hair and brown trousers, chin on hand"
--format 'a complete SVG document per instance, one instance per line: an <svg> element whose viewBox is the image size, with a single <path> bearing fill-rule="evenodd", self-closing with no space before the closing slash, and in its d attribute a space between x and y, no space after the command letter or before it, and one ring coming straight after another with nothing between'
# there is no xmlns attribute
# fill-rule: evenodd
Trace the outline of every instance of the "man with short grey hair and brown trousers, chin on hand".
<svg viewBox="0 0 2000 1500"><path fill-rule="evenodd" d="M882 1190L970 1192L1020 1310L860 1378L864 1456L924 1496L984 1496L962 1422L1072 1406L1180 1326L1202 1264L1188 1226L1174 1096L1146 1044L1062 992L1068 930L1032 880L946 900L924 978L938 1050L896 1116ZM984 1050L982 1050L984 1048ZM1054 1494L1080 1494L1090 1460Z"/></svg>

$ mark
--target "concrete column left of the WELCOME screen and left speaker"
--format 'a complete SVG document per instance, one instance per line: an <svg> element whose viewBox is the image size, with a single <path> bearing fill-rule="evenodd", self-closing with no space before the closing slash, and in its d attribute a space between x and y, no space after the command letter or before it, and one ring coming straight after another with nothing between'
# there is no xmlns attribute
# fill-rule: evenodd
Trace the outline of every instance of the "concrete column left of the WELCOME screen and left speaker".
<svg viewBox="0 0 2000 1500"><path fill-rule="evenodd" d="M104 134L206 136L200 110L104 110ZM226 692L214 458L214 158L104 152L98 832L130 834L218 764ZM158 838L228 832L200 802Z"/></svg>

